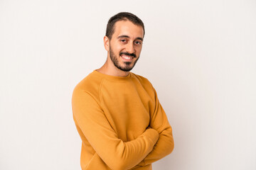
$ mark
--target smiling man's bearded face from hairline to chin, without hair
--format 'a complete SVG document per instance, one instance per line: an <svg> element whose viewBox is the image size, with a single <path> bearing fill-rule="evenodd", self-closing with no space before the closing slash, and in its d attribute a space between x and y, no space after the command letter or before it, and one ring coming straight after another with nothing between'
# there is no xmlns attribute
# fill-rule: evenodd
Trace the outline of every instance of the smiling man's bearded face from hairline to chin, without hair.
<svg viewBox="0 0 256 170"><path fill-rule="evenodd" d="M130 21L117 21L110 40L109 54L115 67L129 72L142 51L143 28Z"/></svg>

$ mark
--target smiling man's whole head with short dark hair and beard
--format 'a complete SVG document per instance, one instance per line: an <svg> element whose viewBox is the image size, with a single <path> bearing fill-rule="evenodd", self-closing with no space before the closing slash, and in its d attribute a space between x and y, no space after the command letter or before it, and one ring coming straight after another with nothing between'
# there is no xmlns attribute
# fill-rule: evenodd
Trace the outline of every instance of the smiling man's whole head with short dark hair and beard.
<svg viewBox="0 0 256 170"><path fill-rule="evenodd" d="M144 23L132 13L117 13L107 23L104 38L108 57L119 70L129 72L142 51Z"/></svg>

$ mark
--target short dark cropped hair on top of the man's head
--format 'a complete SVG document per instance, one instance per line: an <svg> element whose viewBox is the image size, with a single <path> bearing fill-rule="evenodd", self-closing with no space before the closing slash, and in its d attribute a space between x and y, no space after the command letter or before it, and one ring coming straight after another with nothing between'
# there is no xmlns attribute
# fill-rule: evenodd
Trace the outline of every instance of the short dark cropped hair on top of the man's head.
<svg viewBox="0 0 256 170"><path fill-rule="evenodd" d="M106 30L107 38L109 38L111 40L112 35L114 34L114 24L117 23L117 21L127 21L127 20L134 23L134 25L142 26L142 28L143 28L143 37L144 37L145 28L144 28L144 23L142 22L142 20L139 17L132 14L132 13L120 12L120 13L117 13L116 15L112 16L110 18L110 20L108 21L107 30Z"/></svg>

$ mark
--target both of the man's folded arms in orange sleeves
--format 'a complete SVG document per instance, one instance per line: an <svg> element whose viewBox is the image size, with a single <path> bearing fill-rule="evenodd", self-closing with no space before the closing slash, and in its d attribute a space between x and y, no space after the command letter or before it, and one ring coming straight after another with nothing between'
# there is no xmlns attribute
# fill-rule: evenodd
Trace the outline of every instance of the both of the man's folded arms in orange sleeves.
<svg viewBox="0 0 256 170"><path fill-rule="evenodd" d="M171 126L156 92L150 127L129 142L118 138L99 103L82 89L74 91L73 116L92 148L110 169L145 166L165 157L174 149Z"/></svg>

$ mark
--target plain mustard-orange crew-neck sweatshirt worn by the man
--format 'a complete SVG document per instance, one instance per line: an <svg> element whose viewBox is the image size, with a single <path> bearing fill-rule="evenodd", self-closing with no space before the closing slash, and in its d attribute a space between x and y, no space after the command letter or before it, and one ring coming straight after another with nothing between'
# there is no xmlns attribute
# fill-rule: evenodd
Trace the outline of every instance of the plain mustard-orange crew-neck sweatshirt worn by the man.
<svg viewBox="0 0 256 170"><path fill-rule="evenodd" d="M72 106L82 170L149 170L174 149L156 91L137 74L113 77L95 70L75 86Z"/></svg>

